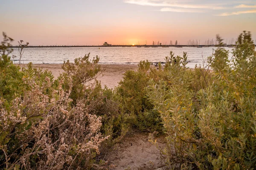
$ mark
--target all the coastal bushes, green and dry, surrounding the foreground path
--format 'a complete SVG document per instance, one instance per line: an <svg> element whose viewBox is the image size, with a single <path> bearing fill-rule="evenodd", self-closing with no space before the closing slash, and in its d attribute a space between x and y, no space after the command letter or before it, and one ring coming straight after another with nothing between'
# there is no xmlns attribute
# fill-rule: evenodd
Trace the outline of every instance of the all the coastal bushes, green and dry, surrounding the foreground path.
<svg viewBox="0 0 256 170"><path fill-rule="evenodd" d="M100 152L133 127L163 134L166 169L256 169L256 51L250 32L233 57L219 48L188 69L187 54L166 66L142 61L115 89L96 81L99 58L64 62L63 74L14 65L0 45L0 168L108 169ZM22 40L20 41L22 42ZM20 53L22 55L22 53ZM20 57L21 58L21 57ZM19 60L20 61L20 60ZM155 131L155 132L154 132Z"/></svg>

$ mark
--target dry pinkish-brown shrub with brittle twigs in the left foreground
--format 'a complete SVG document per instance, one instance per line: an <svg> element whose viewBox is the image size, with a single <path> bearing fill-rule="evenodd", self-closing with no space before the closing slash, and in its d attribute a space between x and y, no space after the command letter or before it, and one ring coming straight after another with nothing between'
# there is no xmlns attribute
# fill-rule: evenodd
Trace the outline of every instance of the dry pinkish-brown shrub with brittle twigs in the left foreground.
<svg viewBox="0 0 256 170"><path fill-rule="evenodd" d="M101 117L88 113L90 105L79 100L70 106L70 92L63 81L52 97L47 78L41 87L33 79L23 79L30 90L6 107L0 100L1 168L90 169L99 167L93 158L108 137L99 132ZM3 154L2 154L3 153Z"/></svg>

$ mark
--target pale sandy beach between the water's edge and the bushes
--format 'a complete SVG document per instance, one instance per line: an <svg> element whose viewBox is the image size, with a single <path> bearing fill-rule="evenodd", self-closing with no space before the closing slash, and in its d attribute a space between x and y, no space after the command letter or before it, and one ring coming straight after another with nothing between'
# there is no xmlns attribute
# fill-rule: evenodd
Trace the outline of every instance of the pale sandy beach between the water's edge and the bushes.
<svg viewBox="0 0 256 170"><path fill-rule="evenodd" d="M104 69L105 71L103 72L103 75L99 75L97 79L101 82L102 87L106 85L108 88L116 87L118 85L118 82L120 82L120 80L122 79L125 71L137 70L138 68L138 65L129 64L102 64L101 66L102 69ZM63 72L61 64L33 64L33 67L42 68L43 71L52 71L52 74L55 78Z"/></svg>

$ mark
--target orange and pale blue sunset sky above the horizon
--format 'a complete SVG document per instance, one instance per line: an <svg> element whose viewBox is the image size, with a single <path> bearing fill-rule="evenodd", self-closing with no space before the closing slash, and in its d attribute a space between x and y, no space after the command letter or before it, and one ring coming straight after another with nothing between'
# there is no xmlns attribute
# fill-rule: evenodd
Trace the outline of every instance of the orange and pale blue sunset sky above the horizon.
<svg viewBox="0 0 256 170"><path fill-rule="evenodd" d="M244 30L256 40L256 0L0 0L13 45L203 44Z"/></svg>

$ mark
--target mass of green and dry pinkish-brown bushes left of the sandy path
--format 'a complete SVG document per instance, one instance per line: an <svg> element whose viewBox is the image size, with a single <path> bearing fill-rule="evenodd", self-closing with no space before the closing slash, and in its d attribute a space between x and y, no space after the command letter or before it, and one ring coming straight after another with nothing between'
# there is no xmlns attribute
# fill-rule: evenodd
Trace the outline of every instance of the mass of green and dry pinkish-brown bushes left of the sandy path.
<svg viewBox="0 0 256 170"><path fill-rule="evenodd" d="M95 159L109 137L100 132L102 118L94 111L93 102L102 98L92 102L89 97L99 86L83 84L99 73L98 59L93 63L88 56L76 59L75 65L64 65L74 72L53 81L51 72L32 68L32 63L27 69L14 65L6 55L7 42L0 47L0 168L108 168Z"/></svg>

